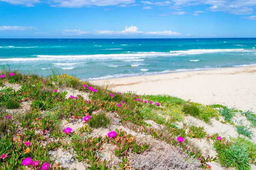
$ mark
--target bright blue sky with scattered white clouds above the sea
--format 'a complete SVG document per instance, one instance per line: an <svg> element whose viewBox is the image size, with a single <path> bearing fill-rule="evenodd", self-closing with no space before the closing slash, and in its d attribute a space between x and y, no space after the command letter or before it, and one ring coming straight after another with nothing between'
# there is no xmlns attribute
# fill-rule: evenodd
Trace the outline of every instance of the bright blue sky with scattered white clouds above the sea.
<svg viewBox="0 0 256 170"><path fill-rule="evenodd" d="M0 0L0 38L256 37L256 0Z"/></svg>

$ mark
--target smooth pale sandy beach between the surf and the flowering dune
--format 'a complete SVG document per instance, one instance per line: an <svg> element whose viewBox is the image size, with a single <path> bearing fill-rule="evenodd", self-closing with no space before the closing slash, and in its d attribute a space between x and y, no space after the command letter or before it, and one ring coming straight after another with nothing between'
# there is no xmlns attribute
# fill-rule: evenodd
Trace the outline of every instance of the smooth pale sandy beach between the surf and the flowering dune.
<svg viewBox="0 0 256 170"><path fill-rule="evenodd" d="M116 91L169 94L202 104L256 112L256 66L93 81Z"/></svg>

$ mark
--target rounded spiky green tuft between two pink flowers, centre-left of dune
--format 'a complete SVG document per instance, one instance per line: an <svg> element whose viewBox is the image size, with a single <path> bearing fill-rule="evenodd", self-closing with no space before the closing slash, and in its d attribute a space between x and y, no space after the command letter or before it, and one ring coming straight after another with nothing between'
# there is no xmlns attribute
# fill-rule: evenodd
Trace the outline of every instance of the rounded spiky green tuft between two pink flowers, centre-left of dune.
<svg viewBox="0 0 256 170"><path fill-rule="evenodd" d="M91 119L88 121L88 125L93 128L107 127L111 124L111 119L106 116L105 113L100 112L98 114L93 114Z"/></svg>

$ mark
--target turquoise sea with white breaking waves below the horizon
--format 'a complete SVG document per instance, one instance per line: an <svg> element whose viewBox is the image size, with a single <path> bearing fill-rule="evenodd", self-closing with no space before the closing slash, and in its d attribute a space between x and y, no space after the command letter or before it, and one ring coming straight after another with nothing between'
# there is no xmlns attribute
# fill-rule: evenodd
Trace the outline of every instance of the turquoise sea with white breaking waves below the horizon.
<svg viewBox="0 0 256 170"><path fill-rule="evenodd" d="M82 80L256 65L256 38L0 39L0 65Z"/></svg>

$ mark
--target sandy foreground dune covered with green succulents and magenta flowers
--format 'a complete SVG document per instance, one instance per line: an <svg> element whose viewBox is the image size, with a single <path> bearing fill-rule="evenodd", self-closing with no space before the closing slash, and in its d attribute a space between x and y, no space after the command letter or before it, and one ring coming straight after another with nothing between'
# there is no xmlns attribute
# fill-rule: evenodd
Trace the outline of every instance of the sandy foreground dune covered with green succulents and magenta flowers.
<svg viewBox="0 0 256 170"><path fill-rule="evenodd" d="M67 74L0 75L1 170L255 168L250 111L116 92Z"/></svg>

